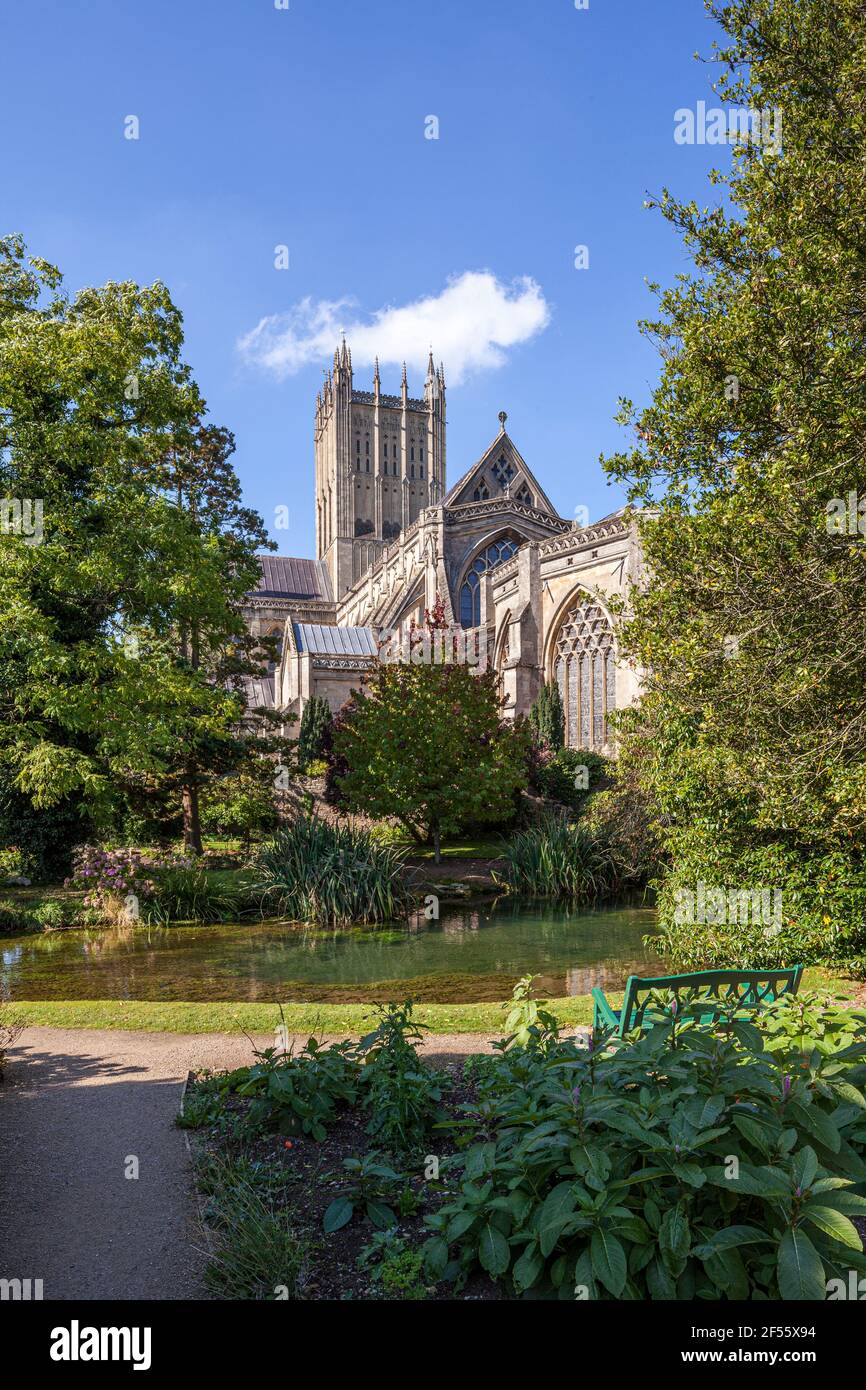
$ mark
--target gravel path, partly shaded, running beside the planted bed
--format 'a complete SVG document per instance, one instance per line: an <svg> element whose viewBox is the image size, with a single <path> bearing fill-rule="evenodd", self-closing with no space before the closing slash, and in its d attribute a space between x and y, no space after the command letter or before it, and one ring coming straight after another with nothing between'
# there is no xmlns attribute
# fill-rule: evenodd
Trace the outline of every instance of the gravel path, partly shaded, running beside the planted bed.
<svg viewBox="0 0 866 1390"><path fill-rule="evenodd" d="M424 1051L457 1058L489 1042L436 1036ZM42 1279L60 1300L204 1297L172 1122L189 1070L250 1061L242 1034L28 1029L0 1084L0 1279ZM125 1176L131 1158L138 1179Z"/></svg>

